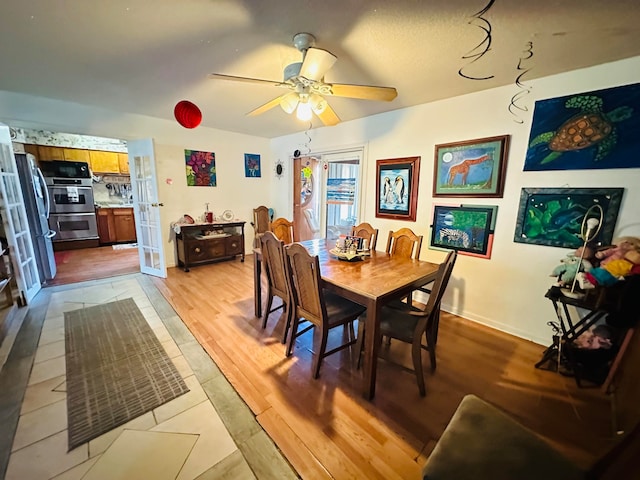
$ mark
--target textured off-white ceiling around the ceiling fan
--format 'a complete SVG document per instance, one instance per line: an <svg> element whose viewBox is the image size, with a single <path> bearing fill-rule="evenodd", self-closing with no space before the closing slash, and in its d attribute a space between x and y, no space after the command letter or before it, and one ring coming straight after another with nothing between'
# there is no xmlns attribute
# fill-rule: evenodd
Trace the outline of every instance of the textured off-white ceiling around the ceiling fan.
<svg viewBox="0 0 640 480"><path fill-rule="evenodd" d="M187 99L203 125L274 137L309 127L280 108L245 116L281 89L207 74L280 80L300 60L298 32L338 57L327 82L398 90L389 103L329 98L347 121L514 84L529 42L524 82L640 55L638 25L637 0L12 1L0 7L0 90L166 119ZM470 63L487 45L479 26L490 49Z"/></svg>

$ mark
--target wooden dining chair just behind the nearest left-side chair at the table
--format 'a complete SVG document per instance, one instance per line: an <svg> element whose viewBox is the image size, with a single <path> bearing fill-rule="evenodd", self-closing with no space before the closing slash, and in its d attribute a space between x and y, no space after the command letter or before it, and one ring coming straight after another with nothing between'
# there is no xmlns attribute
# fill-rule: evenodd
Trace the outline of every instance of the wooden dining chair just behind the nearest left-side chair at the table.
<svg viewBox="0 0 640 480"><path fill-rule="evenodd" d="M262 245L262 262L265 266L267 276L267 307L262 318L262 328L267 327L269 315L282 309L280 318L285 318L284 333L282 343L287 341L287 333L291 325L291 291L287 280L287 270L285 266L286 257L284 253L284 242L278 240L273 232L264 232L260 237ZM280 297L282 304L275 308L273 297Z"/></svg>

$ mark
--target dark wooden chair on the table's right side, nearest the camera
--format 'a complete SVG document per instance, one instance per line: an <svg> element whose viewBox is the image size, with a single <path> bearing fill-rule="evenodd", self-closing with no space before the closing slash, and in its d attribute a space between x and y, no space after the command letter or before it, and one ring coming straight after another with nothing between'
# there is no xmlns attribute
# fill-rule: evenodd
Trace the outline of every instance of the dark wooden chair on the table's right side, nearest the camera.
<svg viewBox="0 0 640 480"><path fill-rule="evenodd" d="M406 303L393 303L382 307L380 334L411 344L413 369L418 381L420 395L426 393L422 372L422 350L429 352L431 373L436 371L436 342L440 320L440 303L451 278L457 252L452 250L438 267L438 273L424 310ZM358 346L362 350L364 322L358 322ZM426 340L426 343L423 342Z"/></svg>

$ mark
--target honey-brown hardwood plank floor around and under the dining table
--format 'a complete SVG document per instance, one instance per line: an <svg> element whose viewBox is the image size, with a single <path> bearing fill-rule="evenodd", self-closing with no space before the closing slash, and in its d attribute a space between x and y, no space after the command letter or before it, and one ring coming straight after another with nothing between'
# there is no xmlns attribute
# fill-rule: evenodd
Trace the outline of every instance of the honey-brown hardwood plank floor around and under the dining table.
<svg viewBox="0 0 640 480"><path fill-rule="evenodd" d="M98 257L90 269L98 268ZM326 358L313 380L313 333L303 335L286 358L280 312L265 330L254 317L252 262L248 255L244 263L188 273L170 268L166 279L153 282L302 478L419 478L467 393L507 411L579 465L588 466L613 445L609 399L599 389L535 369L540 345L450 314L442 316L438 370L427 373L424 398L412 372L379 360L376 397L364 400L349 350ZM61 277L80 281L84 267L77 269ZM389 355L411 365L404 344L393 343Z"/></svg>

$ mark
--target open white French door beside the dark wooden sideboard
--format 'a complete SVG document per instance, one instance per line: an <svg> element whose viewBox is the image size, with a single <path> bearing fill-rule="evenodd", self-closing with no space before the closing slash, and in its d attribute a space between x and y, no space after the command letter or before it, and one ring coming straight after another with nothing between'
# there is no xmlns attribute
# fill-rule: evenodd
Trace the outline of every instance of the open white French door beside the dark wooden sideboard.
<svg viewBox="0 0 640 480"><path fill-rule="evenodd" d="M153 140L127 142L140 271L166 278Z"/></svg>

